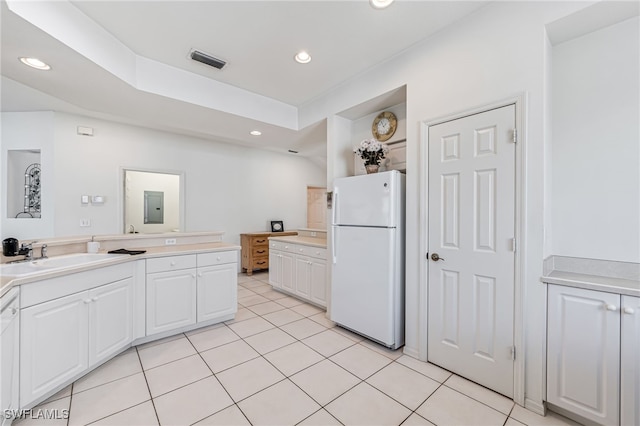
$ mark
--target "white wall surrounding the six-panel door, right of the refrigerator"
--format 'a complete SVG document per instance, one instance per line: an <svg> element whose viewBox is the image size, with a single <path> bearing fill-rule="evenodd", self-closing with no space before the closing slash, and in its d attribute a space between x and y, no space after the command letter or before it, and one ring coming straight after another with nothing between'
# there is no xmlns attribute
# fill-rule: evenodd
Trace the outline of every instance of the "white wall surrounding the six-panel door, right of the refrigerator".
<svg viewBox="0 0 640 426"><path fill-rule="evenodd" d="M545 24L583 8L577 2L496 2L459 21L431 39L341 84L335 91L307 104L301 123L314 122L368 99L406 85L407 93L407 260L405 352L426 356L426 324L420 322L426 305L426 239L422 167L424 142L420 123L526 94L524 188L522 219L526 229L520 245L523 292L526 294L525 397L528 407L542 410L544 392L545 290L540 283L544 259L545 201L545 72L548 44ZM548 82L547 82L548 83ZM329 126L328 187L345 176L341 152L352 141ZM335 166L332 167L332 162ZM421 216L422 215L422 216Z"/></svg>

